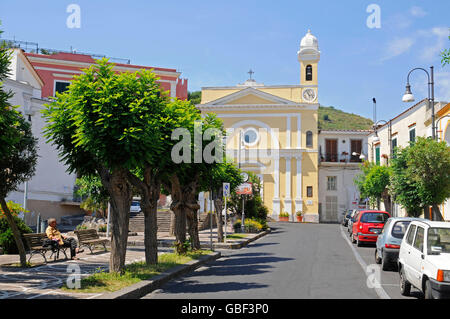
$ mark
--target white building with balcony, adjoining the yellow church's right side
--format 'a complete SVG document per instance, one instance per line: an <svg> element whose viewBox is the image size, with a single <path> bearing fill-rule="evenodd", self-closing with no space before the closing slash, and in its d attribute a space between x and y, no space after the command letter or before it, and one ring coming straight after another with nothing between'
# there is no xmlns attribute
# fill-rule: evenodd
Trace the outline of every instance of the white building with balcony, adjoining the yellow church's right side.
<svg viewBox="0 0 450 319"><path fill-rule="evenodd" d="M358 130L319 132L320 222L341 222L345 211L362 204L354 179L367 157L369 134Z"/></svg>

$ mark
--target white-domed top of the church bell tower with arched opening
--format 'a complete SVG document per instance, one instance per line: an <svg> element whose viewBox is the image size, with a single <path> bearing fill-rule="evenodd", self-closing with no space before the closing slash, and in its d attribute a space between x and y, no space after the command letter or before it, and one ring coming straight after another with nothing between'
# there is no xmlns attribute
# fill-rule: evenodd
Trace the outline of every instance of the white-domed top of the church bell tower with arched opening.
<svg viewBox="0 0 450 319"><path fill-rule="evenodd" d="M297 52L300 62L300 84L318 85L317 64L320 61L319 42L308 30L300 42L300 50Z"/></svg>

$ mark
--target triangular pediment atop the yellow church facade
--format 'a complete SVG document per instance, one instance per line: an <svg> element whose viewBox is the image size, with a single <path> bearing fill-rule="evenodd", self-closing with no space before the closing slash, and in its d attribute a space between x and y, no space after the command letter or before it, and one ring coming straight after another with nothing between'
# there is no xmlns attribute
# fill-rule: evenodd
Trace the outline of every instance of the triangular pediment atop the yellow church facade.
<svg viewBox="0 0 450 319"><path fill-rule="evenodd" d="M246 88L241 91L211 101L208 106L219 105L296 105L295 102L283 99L276 95L262 92L254 88Z"/></svg>

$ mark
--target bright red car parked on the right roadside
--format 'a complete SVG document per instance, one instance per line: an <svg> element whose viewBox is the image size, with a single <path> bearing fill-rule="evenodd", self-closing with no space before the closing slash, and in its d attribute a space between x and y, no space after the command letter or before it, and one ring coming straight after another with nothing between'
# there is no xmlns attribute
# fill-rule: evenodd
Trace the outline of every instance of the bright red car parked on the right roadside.
<svg viewBox="0 0 450 319"><path fill-rule="evenodd" d="M380 210L361 210L353 220L352 243L376 243L384 224L391 217L388 212Z"/></svg>

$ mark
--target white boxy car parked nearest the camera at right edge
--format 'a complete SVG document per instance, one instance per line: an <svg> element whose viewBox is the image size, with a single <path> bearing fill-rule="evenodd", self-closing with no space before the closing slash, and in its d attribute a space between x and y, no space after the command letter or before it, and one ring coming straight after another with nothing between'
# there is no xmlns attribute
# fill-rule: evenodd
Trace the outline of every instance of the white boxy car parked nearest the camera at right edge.
<svg viewBox="0 0 450 319"><path fill-rule="evenodd" d="M412 221L400 245L400 292L411 286L426 299L450 298L450 223Z"/></svg>

